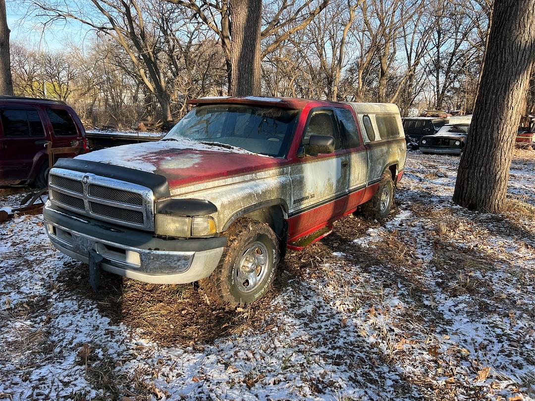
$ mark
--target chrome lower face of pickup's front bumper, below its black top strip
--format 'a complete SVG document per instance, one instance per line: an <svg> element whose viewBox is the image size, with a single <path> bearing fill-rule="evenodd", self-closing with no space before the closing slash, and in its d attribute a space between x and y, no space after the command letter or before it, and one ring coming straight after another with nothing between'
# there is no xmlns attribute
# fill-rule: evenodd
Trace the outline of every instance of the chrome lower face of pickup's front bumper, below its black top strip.
<svg viewBox="0 0 535 401"><path fill-rule="evenodd" d="M71 258L88 263L89 251L94 249L103 257L101 268L105 271L147 283L184 284L204 279L213 272L223 254L223 248L180 252L140 249L49 221L45 221L45 226L52 245Z"/></svg>

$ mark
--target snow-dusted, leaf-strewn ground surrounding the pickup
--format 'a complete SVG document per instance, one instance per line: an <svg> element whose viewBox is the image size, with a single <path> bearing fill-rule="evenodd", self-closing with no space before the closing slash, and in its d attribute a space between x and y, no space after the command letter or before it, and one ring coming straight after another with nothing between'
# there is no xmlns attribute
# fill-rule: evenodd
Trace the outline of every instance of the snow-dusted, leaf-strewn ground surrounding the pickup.
<svg viewBox="0 0 535 401"><path fill-rule="evenodd" d="M111 278L95 295L42 216L1 223L0 397L535 399L534 162L516 153L493 216L452 203L457 157L409 153L386 223L350 216L288 252L217 336L195 305L223 312L190 286Z"/></svg>

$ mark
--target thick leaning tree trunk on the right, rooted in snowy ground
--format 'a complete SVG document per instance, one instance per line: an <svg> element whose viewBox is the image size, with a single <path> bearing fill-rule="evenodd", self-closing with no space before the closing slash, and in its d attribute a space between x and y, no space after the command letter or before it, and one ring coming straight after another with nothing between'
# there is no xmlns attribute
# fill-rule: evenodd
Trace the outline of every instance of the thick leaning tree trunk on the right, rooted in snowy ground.
<svg viewBox="0 0 535 401"><path fill-rule="evenodd" d="M535 0L496 0L481 86L453 201L470 210L506 209L521 99L535 63Z"/></svg>

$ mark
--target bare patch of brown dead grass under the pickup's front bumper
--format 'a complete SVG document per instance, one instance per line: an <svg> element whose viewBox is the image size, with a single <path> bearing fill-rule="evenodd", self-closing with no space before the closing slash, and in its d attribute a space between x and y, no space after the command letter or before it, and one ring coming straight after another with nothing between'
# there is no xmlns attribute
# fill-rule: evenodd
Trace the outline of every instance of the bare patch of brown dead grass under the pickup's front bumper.
<svg viewBox="0 0 535 401"><path fill-rule="evenodd" d="M100 312L114 323L141 329L143 337L160 345L203 347L217 338L256 327L262 329L271 315L271 300L286 286L287 275L279 272L274 289L254 307L227 311L208 305L193 284L156 285L104 273L99 294L88 284L86 265L66 265L63 285L80 297L93 299ZM284 266L282 266L284 269ZM282 271L282 269L281 269Z"/></svg>

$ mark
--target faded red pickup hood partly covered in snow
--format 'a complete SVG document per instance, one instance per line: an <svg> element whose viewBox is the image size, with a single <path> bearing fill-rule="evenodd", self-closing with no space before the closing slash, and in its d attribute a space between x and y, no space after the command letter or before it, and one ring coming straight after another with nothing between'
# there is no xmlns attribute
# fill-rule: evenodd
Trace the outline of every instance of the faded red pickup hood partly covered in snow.
<svg viewBox="0 0 535 401"><path fill-rule="evenodd" d="M285 164L285 159L193 141L136 143L97 150L77 159L165 176L170 189Z"/></svg>

